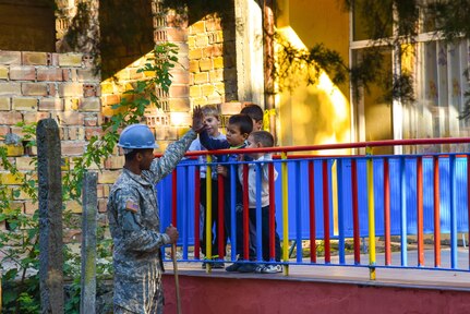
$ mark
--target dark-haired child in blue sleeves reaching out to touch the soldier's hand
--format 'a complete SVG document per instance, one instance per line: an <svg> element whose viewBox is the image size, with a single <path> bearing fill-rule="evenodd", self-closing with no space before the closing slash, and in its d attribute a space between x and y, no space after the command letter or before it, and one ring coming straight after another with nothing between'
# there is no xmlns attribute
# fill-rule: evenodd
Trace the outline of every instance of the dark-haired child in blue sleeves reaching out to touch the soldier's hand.
<svg viewBox="0 0 470 314"><path fill-rule="evenodd" d="M200 141L201 144L206 147L208 150L213 149L238 149L238 148L244 148L245 147L245 141L249 137L249 134L253 130L253 122L251 118L246 114L234 114L229 118L228 125L227 125L227 138L225 141L220 140L214 140L210 138L207 132L203 131L200 134ZM230 154L220 156L219 160L220 162L227 162L227 161L237 161L239 159L237 154ZM231 221L231 197L230 197L230 171L229 167L219 165L217 166L217 172L224 176L224 216L225 216L225 240L228 239L230 235L230 221ZM236 204L237 207L240 208L242 204L242 186L239 180L236 180ZM242 220L242 213L240 210L237 210L236 214L237 217L237 226L240 226L237 228L237 239L234 240L237 243L237 254L240 256L243 252L243 228L242 224L240 222ZM250 255L254 255L255 251L254 247L251 247ZM234 263L226 268L227 271L236 271L241 264Z"/></svg>

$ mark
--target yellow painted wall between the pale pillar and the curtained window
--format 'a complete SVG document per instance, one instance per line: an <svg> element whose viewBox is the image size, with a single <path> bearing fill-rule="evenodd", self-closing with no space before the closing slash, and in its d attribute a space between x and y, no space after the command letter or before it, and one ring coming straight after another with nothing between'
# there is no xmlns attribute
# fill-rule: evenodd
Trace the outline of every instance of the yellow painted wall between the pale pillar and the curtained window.
<svg viewBox="0 0 470 314"><path fill-rule="evenodd" d="M332 0L279 1L277 27L297 46L323 43L348 62L349 14ZM299 81L299 76L292 77ZM334 86L326 74L318 84L303 82L277 96L278 144L316 145L351 141L349 85ZM339 152L336 152L339 153ZM333 152L323 152L333 154Z"/></svg>

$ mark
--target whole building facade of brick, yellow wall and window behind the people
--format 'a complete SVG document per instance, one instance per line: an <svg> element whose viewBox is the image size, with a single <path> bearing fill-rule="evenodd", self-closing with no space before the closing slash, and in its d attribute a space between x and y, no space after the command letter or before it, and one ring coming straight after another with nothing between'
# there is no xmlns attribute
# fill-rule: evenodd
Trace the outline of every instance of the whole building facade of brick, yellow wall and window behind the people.
<svg viewBox="0 0 470 314"><path fill-rule="evenodd" d="M158 106L147 108L145 120L161 149L188 130L193 106L208 104L222 104L225 117L239 112L243 102L261 105L268 112L266 126L281 146L468 136L468 122L458 117L469 88L462 75L469 67L469 41L438 40L424 11L419 13L415 43L384 45L382 52L381 67L390 82L405 72L412 77L411 101L384 98L374 84L367 90L348 81L336 85L327 71L316 73L311 85L302 69L278 80L281 40L299 50L321 43L337 51L347 67L361 62L374 43L361 24L363 11L345 10L342 1L189 1L182 11L168 11L161 2L0 0L0 135L22 135L17 122L53 118L61 130L64 165L73 167L74 156L83 154L91 136L100 134L103 122L112 117L112 105L145 77L137 70L154 46L170 41L179 51L172 85L168 93L156 90ZM410 53L398 58L397 48L407 47ZM34 148L22 142L2 145L20 170L33 170ZM467 148L385 147L373 153ZM335 153L353 152L325 152ZM101 213L122 165L118 153L103 165ZM5 171L1 176L4 184L17 183ZM16 201L26 213L36 208L31 200ZM68 207L81 210L79 204Z"/></svg>

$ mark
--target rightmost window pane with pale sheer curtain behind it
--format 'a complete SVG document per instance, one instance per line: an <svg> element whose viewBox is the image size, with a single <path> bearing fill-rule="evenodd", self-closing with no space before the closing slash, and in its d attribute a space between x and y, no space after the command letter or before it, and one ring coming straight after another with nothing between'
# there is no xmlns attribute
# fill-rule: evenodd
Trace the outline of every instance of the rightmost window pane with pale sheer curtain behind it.
<svg viewBox="0 0 470 314"><path fill-rule="evenodd" d="M465 106L463 93L469 88L469 82L462 75L468 64L467 40L456 45L429 41L420 44L419 49L418 97L417 104L405 111L409 120L405 137L468 136L469 123L459 119ZM418 152L468 152L468 145L423 145Z"/></svg>

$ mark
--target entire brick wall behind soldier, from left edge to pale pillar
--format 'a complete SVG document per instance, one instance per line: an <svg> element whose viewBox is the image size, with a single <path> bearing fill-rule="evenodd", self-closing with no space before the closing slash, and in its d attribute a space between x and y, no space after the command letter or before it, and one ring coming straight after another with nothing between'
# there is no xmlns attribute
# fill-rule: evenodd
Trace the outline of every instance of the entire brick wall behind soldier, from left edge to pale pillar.
<svg viewBox="0 0 470 314"><path fill-rule="evenodd" d="M88 1L97 5L97 0ZM108 49L101 55L106 71L98 74L95 60L87 53L93 48L87 46L88 43L80 53L65 52L71 49L63 39L76 13L75 2L61 1L59 5L56 46L61 53L0 51L0 135L23 135L21 128L15 126L17 122L56 119L60 128L64 167L73 167L73 157L83 154L91 136L100 134L103 120L113 114L111 106L121 100L130 84L144 77L145 74L137 73L137 69L144 64L154 44L167 40L178 45L180 64L171 71L169 93L157 90L161 109L148 108L145 119L155 130L160 149L164 150L188 130L195 105L222 102L222 113L239 112L242 104L230 102L237 99L234 17L221 23L218 17L207 15L189 25L174 12L166 12L158 0L138 0L142 10L135 11L135 19L149 24L146 27L150 27L150 36L147 39L144 36L144 40L140 41L142 45L130 45L120 36L108 33L112 31L112 24L108 25L107 21L116 14L111 8L100 5L100 33L101 38L108 38ZM96 21L98 17L94 15L93 19ZM96 27L98 23L92 24ZM5 144L0 142L0 145ZM19 143L8 145L8 149L9 158L20 170L33 170L31 161L37 152L35 147L26 149L23 143ZM98 177L101 214L106 212L109 188L119 176L123 161L117 149L116 155L103 165L104 171ZM0 169L0 176L3 183L17 186L19 182L14 182L7 171ZM74 213L81 212L76 202L65 205ZM27 214L37 208L37 204L24 194L15 198L15 206ZM106 219L105 215L101 219ZM2 228L4 224L0 225Z"/></svg>

